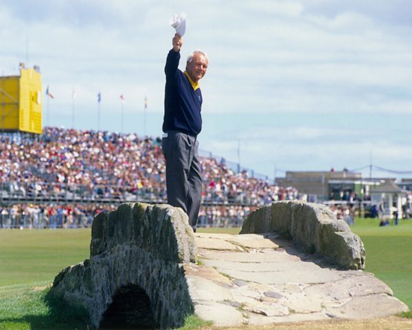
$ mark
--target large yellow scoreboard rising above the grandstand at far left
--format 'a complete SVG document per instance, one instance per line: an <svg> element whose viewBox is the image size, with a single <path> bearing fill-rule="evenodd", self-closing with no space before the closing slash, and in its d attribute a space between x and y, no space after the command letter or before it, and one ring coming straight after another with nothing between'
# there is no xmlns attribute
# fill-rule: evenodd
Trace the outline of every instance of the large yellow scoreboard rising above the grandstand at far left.
<svg viewBox="0 0 412 330"><path fill-rule="evenodd" d="M42 133L41 74L38 67L20 76L0 77L0 131Z"/></svg>

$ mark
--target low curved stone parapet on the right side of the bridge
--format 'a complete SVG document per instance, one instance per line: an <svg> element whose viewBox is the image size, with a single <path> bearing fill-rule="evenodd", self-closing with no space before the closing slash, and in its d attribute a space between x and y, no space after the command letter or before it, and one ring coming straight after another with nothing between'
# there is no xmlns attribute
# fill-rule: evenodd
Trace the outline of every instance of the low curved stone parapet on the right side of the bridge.
<svg viewBox="0 0 412 330"><path fill-rule="evenodd" d="M317 203L280 201L251 212L240 234L279 232L309 252L328 256L343 269L365 269L363 242L330 208Z"/></svg>

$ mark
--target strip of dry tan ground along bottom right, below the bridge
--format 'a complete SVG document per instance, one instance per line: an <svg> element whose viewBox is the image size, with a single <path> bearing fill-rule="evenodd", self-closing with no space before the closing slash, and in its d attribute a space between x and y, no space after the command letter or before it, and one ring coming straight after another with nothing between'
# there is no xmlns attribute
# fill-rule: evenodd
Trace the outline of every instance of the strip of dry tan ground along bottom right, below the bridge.
<svg viewBox="0 0 412 330"><path fill-rule="evenodd" d="M328 320L266 326L203 327L204 330L412 330L412 319L391 316L373 320Z"/></svg>

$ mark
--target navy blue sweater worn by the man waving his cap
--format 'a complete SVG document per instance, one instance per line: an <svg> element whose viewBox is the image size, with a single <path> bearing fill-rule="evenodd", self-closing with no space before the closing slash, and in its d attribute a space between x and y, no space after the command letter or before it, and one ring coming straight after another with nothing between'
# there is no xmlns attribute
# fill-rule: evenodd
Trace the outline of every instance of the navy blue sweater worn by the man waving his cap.
<svg viewBox="0 0 412 330"><path fill-rule="evenodd" d="M165 115L163 132L179 131L192 136L202 129L202 93L194 90L189 79L178 69L180 53L170 50L166 59Z"/></svg>

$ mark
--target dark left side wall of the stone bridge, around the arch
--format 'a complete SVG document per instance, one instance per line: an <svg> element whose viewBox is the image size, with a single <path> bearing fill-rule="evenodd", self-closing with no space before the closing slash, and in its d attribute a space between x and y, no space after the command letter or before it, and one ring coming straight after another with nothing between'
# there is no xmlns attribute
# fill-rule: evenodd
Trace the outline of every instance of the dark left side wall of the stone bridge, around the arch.
<svg viewBox="0 0 412 330"><path fill-rule="evenodd" d="M183 325L194 311L183 265L196 263L194 234L183 210L122 204L95 217L91 236L90 259L62 270L52 294L86 307L98 328L117 292L138 286L160 327Z"/></svg>

